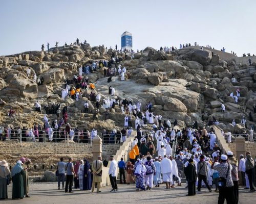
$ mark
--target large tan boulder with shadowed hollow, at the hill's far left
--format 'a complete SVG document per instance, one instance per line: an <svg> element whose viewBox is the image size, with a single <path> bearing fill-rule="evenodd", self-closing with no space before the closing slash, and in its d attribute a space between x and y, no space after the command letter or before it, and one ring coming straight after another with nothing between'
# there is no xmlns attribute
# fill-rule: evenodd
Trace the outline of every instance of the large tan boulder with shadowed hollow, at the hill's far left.
<svg viewBox="0 0 256 204"><path fill-rule="evenodd" d="M27 79L16 79L11 82L9 88L18 89L20 96L28 98L35 98L38 93L37 84Z"/></svg>

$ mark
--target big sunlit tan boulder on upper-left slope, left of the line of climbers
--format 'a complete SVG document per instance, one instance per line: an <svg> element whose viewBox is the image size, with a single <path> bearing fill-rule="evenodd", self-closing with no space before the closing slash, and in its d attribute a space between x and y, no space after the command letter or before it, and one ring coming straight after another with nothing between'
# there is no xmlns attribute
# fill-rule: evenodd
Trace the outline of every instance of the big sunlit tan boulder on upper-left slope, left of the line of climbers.
<svg viewBox="0 0 256 204"><path fill-rule="evenodd" d="M58 83L64 77L64 70L58 68L49 69L42 73L40 77L44 78L44 84Z"/></svg>

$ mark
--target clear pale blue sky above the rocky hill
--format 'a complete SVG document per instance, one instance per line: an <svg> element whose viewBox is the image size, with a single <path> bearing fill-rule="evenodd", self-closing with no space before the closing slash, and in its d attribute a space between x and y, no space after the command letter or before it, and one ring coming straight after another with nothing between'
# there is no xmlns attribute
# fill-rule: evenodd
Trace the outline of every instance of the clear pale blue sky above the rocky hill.
<svg viewBox="0 0 256 204"><path fill-rule="evenodd" d="M255 7L255 0L1 0L0 56L77 38L120 49L125 31L135 50L196 41L256 55Z"/></svg>

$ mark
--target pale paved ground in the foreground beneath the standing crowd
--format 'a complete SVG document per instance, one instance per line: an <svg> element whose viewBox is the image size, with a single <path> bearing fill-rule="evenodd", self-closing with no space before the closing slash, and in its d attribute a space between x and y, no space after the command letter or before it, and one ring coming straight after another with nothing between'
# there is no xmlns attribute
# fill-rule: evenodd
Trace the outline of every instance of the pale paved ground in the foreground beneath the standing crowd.
<svg viewBox="0 0 256 204"><path fill-rule="evenodd" d="M185 196L187 189L184 186L174 189L153 188L151 191L135 192L134 185L118 185L118 192L110 192L111 187L104 187L101 193L91 193L91 191L79 191L74 189L74 193L65 193L63 190L56 190L57 183L30 184L30 198L22 200L1 200L0 203L26 203L26 204L101 204L101 203L175 203L175 204L216 204L218 202L218 193L208 193L207 189L202 189L202 193L196 196ZM8 186L8 195L11 197L12 185ZM256 193L249 193L248 190L241 189L240 204L255 203Z"/></svg>

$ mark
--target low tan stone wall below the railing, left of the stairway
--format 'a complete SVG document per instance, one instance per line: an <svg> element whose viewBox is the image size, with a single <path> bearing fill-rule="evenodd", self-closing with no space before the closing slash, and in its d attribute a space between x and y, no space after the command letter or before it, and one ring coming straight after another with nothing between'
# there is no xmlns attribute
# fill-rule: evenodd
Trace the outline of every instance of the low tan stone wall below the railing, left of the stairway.
<svg viewBox="0 0 256 204"><path fill-rule="evenodd" d="M110 155L116 155L120 144L103 144L102 158L108 160ZM86 158L92 162L92 146L87 143L50 143L0 141L0 161L7 160L14 166L20 157L30 158L32 164L29 170L33 174L44 174L45 170L55 170L60 157L65 161L69 157L74 160ZM34 165L36 169L34 169Z"/></svg>

